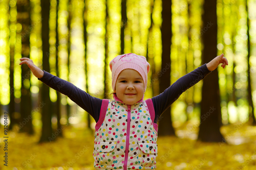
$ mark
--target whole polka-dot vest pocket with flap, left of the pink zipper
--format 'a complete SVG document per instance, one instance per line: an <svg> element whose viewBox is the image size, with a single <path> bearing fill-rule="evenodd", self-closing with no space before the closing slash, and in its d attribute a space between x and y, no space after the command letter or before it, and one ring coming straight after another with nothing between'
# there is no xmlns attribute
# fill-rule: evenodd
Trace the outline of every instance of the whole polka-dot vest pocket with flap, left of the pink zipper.
<svg viewBox="0 0 256 170"><path fill-rule="evenodd" d="M96 161L99 165L112 165L116 161L116 141L97 140Z"/></svg>

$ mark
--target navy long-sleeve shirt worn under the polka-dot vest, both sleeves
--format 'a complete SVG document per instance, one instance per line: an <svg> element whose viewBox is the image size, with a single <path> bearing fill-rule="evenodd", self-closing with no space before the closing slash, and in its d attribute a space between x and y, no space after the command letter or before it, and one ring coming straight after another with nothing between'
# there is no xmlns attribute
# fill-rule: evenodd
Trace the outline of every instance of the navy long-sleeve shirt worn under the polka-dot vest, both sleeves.
<svg viewBox="0 0 256 170"><path fill-rule="evenodd" d="M209 73L211 73L211 71L209 71L206 64L204 64L194 71L191 71L190 73L180 77L175 83L165 89L163 93L153 97L152 102L155 110L154 123L157 123L162 113L175 100L177 100L183 92L202 80ZM96 122L98 122L102 99L93 97L72 83L54 76L46 71L44 71L44 76L41 79L38 78L38 80L42 81L47 86L55 89L56 91L68 96L78 106L87 111Z"/></svg>

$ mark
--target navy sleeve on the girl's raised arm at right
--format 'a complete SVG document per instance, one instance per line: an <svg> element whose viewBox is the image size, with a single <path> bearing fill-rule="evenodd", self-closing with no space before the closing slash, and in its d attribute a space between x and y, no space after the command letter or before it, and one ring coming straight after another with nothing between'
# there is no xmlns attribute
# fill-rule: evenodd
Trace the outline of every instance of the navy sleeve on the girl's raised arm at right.
<svg viewBox="0 0 256 170"><path fill-rule="evenodd" d="M194 71L180 77L170 87L164 90L163 93L152 98L155 110L155 120L157 123L162 113L171 105L179 96L188 88L194 86L200 80L204 79L211 71L207 69L206 64L198 67Z"/></svg>

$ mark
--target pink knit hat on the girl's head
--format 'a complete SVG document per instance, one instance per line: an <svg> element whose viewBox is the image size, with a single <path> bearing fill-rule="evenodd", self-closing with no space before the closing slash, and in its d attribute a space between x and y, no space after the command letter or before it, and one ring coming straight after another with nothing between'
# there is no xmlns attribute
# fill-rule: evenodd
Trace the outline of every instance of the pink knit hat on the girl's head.
<svg viewBox="0 0 256 170"><path fill-rule="evenodd" d="M115 83L117 77L124 69L133 69L140 73L144 81L144 93L147 88L147 74L150 69L150 65L146 58L141 55L133 53L123 54L116 56L110 63L110 70L112 72L112 88L115 90Z"/></svg>

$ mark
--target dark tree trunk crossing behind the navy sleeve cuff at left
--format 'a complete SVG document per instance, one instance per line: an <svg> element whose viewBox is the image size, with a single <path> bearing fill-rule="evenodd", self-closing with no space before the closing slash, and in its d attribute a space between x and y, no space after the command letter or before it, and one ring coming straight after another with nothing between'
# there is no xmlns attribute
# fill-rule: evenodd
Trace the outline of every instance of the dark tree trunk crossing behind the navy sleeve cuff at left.
<svg viewBox="0 0 256 170"><path fill-rule="evenodd" d="M50 0L41 0L42 7L42 53L43 53L43 69L50 72L49 58L49 15L50 15ZM49 142L54 140L51 128L51 100L49 96L50 89L47 85L42 86L42 102L45 103L42 107L42 134L39 142Z"/></svg>

